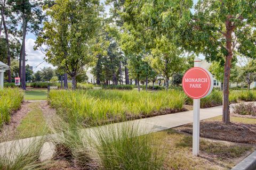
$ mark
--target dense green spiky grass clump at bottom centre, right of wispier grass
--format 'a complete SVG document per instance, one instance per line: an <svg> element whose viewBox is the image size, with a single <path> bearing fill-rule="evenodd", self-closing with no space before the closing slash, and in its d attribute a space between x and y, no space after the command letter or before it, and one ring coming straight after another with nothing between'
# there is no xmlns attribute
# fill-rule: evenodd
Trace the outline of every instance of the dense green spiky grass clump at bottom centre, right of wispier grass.
<svg viewBox="0 0 256 170"><path fill-rule="evenodd" d="M105 169L163 169L163 153L151 135L135 124L104 126L95 130L95 148Z"/></svg>

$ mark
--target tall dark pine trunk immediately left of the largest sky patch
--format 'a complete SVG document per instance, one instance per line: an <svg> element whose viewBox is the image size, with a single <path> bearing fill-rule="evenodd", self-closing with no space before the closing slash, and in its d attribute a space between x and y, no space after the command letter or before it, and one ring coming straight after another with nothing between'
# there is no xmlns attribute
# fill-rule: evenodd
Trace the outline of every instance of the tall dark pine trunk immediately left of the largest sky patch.
<svg viewBox="0 0 256 170"><path fill-rule="evenodd" d="M26 54L25 54L25 39L26 39L26 18L25 13L22 14L22 83L21 87L26 90Z"/></svg>

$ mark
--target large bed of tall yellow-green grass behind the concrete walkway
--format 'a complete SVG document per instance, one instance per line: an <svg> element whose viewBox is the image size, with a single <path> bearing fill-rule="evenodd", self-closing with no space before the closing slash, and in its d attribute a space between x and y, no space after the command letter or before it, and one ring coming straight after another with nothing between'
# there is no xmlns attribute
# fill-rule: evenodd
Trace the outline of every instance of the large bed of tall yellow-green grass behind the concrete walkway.
<svg viewBox="0 0 256 170"><path fill-rule="evenodd" d="M181 111L185 101L182 92L169 90L138 92L120 90L51 90L49 102L62 116L81 123L126 120L147 117L154 112Z"/></svg>

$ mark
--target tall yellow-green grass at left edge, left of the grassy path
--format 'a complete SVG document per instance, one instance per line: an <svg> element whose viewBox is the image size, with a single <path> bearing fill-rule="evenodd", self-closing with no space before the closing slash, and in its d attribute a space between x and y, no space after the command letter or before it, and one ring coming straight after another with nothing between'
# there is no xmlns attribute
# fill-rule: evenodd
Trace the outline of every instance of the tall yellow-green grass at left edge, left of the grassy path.
<svg viewBox="0 0 256 170"><path fill-rule="evenodd" d="M4 88L0 90L0 125L9 123L11 113L20 108L23 92L18 88Z"/></svg>

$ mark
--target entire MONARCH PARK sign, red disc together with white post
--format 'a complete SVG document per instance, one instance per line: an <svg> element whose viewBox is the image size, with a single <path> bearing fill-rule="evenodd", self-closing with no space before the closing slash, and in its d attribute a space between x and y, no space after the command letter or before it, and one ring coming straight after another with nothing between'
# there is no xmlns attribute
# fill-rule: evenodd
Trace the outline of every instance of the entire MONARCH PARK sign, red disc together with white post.
<svg viewBox="0 0 256 170"><path fill-rule="evenodd" d="M183 76L182 88L193 99L193 155L199 155L200 99L208 96L213 89L212 74L201 68L201 60L195 58L194 67Z"/></svg>

